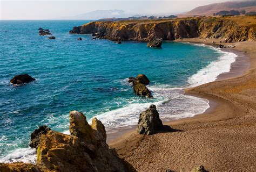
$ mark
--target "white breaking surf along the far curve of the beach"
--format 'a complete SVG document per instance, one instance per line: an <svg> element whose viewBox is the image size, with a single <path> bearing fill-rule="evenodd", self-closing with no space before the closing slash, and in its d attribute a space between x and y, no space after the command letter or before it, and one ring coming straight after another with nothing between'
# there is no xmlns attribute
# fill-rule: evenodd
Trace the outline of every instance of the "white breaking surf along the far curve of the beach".
<svg viewBox="0 0 256 172"><path fill-rule="evenodd" d="M196 87L201 84L213 82L220 74L230 71L231 64L235 62L237 55L234 53L220 51L220 49L214 49L220 54L218 60L211 62L203 69L200 69L197 74L189 77L187 82L190 83L190 87Z"/></svg>

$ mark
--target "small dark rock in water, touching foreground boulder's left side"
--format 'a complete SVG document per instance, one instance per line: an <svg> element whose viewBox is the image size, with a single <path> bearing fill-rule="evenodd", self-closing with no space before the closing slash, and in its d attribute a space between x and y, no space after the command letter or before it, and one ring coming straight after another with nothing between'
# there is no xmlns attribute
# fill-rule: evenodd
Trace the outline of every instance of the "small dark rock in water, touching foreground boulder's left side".
<svg viewBox="0 0 256 172"><path fill-rule="evenodd" d="M37 148L38 143L39 143L40 138L41 138L41 135L46 134L46 132L48 132L49 130L51 130L51 128L49 128L46 125L39 126L38 129L36 129L34 132L31 133L29 146L33 147L33 148Z"/></svg>

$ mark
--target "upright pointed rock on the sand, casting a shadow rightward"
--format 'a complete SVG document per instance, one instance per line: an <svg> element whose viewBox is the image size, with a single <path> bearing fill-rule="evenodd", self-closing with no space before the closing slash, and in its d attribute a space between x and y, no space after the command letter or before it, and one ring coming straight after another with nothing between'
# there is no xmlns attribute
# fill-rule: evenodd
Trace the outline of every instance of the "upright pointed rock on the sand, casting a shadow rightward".
<svg viewBox="0 0 256 172"><path fill-rule="evenodd" d="M150 105L149 109L139 114L139 123L137 132L139 134L155 134L157 130L161 130L163 123L159 118L156 105Z"/></svg>

